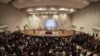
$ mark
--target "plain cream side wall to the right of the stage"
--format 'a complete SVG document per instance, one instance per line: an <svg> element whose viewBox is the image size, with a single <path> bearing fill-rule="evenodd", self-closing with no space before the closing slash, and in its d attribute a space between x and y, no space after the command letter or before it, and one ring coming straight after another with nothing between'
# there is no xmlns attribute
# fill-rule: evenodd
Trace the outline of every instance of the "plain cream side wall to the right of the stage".
<svg viewBox="0 0 100 56"><path fill-rule="evenodd" d="M100 26L100 2L93 3L73 14L72 24L76 26L77 31L80 27L84 27L84 32L92 34L92 28Z"/></svg>

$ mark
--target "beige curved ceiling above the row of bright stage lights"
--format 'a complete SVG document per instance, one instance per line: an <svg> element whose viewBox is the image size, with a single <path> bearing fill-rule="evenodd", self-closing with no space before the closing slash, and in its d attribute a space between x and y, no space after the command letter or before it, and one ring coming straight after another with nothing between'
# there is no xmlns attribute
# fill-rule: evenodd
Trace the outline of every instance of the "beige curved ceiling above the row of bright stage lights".
<svg viewBox="0 0 100 56"><path fill-rule="evenodd" d="M0 2L11 4L18 9L33 7L66 7L82 9L88 6L92 1L98 0L0 0Z"/></svg>

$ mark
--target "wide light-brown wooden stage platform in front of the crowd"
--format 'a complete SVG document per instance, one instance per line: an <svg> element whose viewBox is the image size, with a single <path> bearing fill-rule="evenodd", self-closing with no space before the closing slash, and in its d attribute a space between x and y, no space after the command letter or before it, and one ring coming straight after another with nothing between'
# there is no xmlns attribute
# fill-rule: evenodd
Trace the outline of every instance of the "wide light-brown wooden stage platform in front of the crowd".
<svg viewBox="0 0 100 56"><path fill-rule="evenodd" d="M21 31L27 35L34 35L34 36L72 36L75 31L65 31L65 30L23 30Z"/></svg>

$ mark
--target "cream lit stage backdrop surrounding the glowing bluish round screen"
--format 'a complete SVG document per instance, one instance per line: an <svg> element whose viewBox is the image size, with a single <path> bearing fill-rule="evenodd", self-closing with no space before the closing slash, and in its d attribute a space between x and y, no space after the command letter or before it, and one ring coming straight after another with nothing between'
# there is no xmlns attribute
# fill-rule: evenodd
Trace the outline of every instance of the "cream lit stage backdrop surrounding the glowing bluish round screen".
<svg viewBox="0 0 100 56"><path fill-rule="evenodd" d="M70 17L67 14L59 14L59 15L30 15L28 17L29 20L29 28L30 29L46 29L46 21L54 20L56 21L55 30L70 30L71 22ZM54 22L50 24L55 24ZM50 25L49 25L50 26ZM53 26L53 25L51 25Z"/></svg>

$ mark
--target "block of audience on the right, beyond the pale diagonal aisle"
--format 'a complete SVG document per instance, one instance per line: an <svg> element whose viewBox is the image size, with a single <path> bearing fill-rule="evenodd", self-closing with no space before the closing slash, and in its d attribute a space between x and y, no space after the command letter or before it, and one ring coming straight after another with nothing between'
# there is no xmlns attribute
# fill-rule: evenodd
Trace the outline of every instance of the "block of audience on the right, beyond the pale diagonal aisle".
<svg viewBox="0 0 100 56"><path fill-rule="evenodd" d="M78 34L74 36L72 42L94 53L100 53L100 38L97 38L97 34L96 36L94 34L92 36L85 33Z"/></svg>

